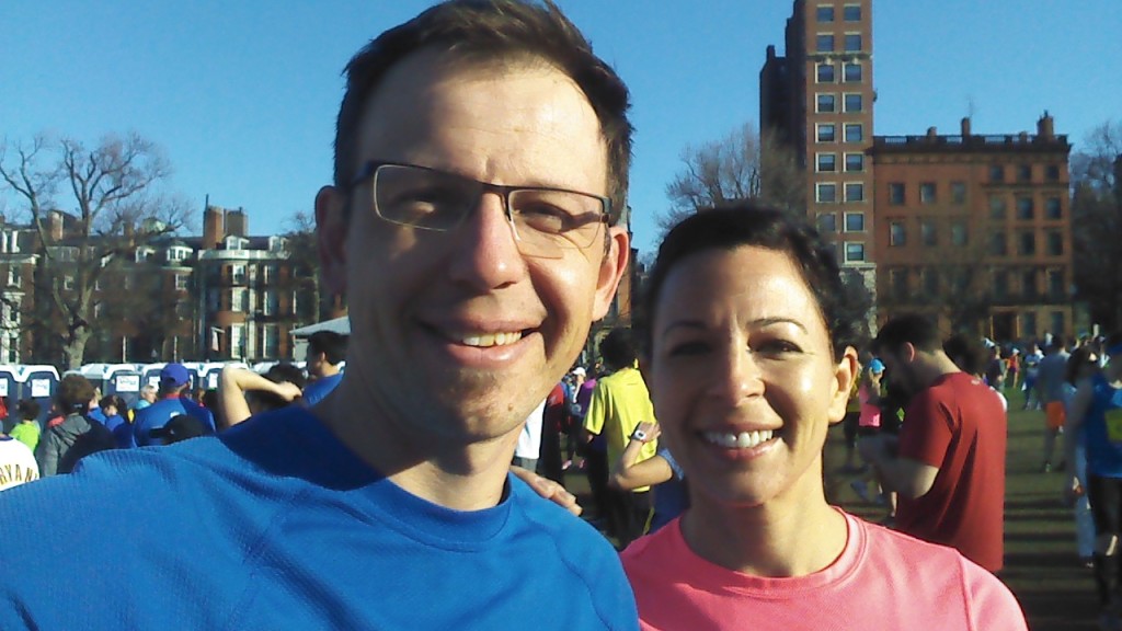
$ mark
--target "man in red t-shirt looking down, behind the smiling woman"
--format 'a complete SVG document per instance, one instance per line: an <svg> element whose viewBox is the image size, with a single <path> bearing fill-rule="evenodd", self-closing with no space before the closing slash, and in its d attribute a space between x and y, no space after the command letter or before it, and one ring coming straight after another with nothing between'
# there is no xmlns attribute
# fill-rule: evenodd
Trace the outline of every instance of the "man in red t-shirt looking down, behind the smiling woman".
<svg viewBox="0 0 1122 631"><path fill-rule="evenodd" d="M899 439L881 432L861 445L896 491L896 529L1000 570L1008 428L1001 401L954 363L928 317L893 318L873 350L889 381L911 395Z"/></svg>

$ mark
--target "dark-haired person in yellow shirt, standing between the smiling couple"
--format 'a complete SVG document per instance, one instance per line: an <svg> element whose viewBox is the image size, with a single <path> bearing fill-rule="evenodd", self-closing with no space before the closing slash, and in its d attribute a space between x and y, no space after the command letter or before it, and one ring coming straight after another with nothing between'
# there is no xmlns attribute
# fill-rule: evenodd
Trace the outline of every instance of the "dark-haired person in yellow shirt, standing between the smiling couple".
<svg viewBox="0 0 1122 631"><path fill-rule="evenodd" d="M600 341L600 357L610 372L596 382L592 400L585 415L585 430L589 439L607 442L607 461L619 459L631 440L640 440L643 448L636 461L651 458L657 451L657 441L646 436L635 436L641 422L654 422L654 405L640 374L637 353L631 329L614 329ZM651 513L651 487L634 491L609 488L607 493L608 534L615 537L620 549L643 534Z"/></svg>

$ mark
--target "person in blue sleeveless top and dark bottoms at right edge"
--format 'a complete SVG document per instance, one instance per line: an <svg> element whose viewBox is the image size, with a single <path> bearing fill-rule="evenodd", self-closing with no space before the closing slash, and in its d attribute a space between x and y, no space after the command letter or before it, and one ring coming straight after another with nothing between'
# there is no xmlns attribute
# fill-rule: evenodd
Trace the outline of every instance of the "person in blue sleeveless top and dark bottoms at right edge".
<svg viewBox="0 0 1122 631"><path fill-rule="evenodd" d="M1076 448L1083 445L1087 456L1086 485L1072 467L1065 485L1072 502L1086 493L1095 522L1092 563L1095 586L1102 607L1103 629L1122 628L1122 582L1120 582L1120 541L1122 537L1122 333L1106 339L1106 367L1084 378L1070 402L1064 431L1064 451L1068 463L1076 463Z"/></svg>

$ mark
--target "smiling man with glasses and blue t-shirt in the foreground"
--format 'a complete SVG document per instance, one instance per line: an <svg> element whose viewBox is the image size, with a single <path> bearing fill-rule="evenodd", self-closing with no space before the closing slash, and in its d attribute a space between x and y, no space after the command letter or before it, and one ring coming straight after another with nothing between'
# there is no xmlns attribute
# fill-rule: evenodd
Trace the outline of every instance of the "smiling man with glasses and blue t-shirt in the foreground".
<svg viewBox="0 0 1122 631"><path fill-rule="evenodd" d="M346 376L6 492L8 541L71 545L0 543L0 628L636 629L610 546L508 474L627 262L626 110L549 3L457 0L360 51L315 200Z"/></svg>

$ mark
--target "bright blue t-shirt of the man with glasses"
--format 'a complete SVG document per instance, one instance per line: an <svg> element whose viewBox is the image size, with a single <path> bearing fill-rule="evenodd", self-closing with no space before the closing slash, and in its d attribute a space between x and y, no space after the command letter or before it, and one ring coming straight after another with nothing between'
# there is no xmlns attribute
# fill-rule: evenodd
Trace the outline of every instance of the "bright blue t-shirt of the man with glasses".
<svg viewBox="0 0 1122 631"><path fill-rule="evenodd" d="M587 523L509 476L491 509L426 502L296 406L96 454L0 493L0 523L9 631L638 628Z"/></svg>

